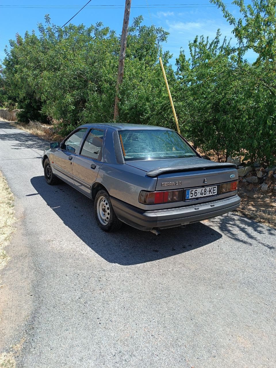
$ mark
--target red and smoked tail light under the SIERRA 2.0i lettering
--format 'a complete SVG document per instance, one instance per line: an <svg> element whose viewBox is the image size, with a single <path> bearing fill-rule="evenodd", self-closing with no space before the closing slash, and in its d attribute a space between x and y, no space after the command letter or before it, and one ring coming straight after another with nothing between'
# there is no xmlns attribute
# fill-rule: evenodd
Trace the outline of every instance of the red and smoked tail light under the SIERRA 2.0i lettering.
<svg viewBox="0 0 276 368"><path fill-rule="evenodd" d="M162 192L146 192L142 190L139 195L139 202L145 205L155 205L160 203L179 202L183 199L183 189L167 190Z"/></svg>

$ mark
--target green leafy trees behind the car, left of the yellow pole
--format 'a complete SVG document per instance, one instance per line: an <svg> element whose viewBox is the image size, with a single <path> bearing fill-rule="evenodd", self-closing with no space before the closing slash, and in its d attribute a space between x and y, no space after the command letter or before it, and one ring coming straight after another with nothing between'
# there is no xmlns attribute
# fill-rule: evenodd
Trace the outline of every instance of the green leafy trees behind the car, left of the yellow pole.
<svg viewBox="0 0 276 368"><path fill-rule="evenodd" d="M24 109L23 121L60 120L64 133L80 123L112 120L120 38L102 23L89 28L70 24L61 29L51 26L49 17L45 20L45 26L39 24L39 36L26 32L24 39L18 36L10 42L2 71L9 105ZM155 93L165 92L156 64L167 33L141 22L142 17L136 18L128 35L120 120L148 123L151 113L156 116L153 87ZM146 78L150 89L144 85ZM170 116L170 106L166 106L163 121L156 116L152 123L166 123Z"/></svg>

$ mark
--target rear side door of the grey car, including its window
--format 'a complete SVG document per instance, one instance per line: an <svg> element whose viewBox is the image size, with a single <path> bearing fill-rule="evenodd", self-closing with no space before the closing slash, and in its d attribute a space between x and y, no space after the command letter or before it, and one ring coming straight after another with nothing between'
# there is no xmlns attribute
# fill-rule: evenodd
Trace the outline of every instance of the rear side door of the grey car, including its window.
<svg viewBox="0 0 276 368"><path fill-rule="evenodd" d="M91 186L103 164L104 134L104 130L91 129L74 159L74 185L88 197L91 196Z"/></svg>

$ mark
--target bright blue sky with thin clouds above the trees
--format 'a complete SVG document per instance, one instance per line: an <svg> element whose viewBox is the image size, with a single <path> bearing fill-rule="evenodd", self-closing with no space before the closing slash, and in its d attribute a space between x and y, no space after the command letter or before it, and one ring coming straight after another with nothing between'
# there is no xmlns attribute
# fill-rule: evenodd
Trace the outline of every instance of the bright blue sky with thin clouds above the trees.
<svg viewBox="0 0 276 368"><path fill-rule="evenodd" d="M37 32L37 24L38 22L44 22L45 14L50 14L54 24L63 25L77 13L79 8L62 8L62 6L83 6L86 2L87 0L18 0L9 2L1 0L0 59L4 59L4 47L8 44L9 39L15 39L15 33L18 32L24 36L26 30L31 32L34 29ZM231 27L223 18L221 11L209 4L208 0L148 0L148 3L152 22L170 32L168 42L163 46L163 49L173 53L171 59L173 65L179 55L180 48L182 47L187 53L188 42L192 41L196 35L209 36L212 39L217 28L220 28L222 36L232 37L232 43L235 43L231 34ZM92 0L89 6L84 8L72 20L72 23L84 23L89 26L102 21L105 26L115 29L120 34L125 1L107 0L105 5L115 6L113 8L99 7L101 4ZM231 13L238 17L238 8L231 5L230 1L227 1L227 4L229 4L228 8ZM31 6L35 6L35 8ZM61 7L57 8L57 6ZM151 25L146 0L132 0L130 24L133 18L138 15L143 15L144 23ZM254 53L249 52L247 59L250 62L254 61Z"/></svg>

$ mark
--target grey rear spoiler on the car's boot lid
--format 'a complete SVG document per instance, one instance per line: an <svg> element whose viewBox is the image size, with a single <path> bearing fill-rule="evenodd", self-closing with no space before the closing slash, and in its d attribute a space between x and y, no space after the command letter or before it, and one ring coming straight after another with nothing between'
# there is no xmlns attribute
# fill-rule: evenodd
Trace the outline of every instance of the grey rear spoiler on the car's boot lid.
<svg viewBox="0 0 276 368"><path fill-rule="evenodd" d="M147 176L158 176L165 173L175 173L177 171L196 171L196 170L206 170L206 169L237 169L237 165L233 163L217 163L210 161L210 164L195 164L195 165L183 165L178 167L159 167L158 169L154 169L148 171L146 173Z"/></svg>

